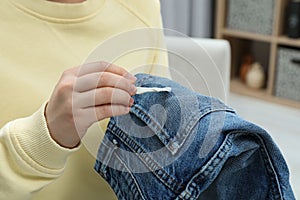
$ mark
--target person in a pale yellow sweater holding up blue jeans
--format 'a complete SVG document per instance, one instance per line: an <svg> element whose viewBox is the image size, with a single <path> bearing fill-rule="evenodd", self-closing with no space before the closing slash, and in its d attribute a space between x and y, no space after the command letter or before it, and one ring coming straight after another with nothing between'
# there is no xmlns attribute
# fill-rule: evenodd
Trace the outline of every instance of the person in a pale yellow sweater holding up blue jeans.
<svg viewBox="0 0 300 200"><path fill-rule="evenodd" d="M129 71L168 76L157 67L167 58L144 49L113 64L86 60L109 38L161 28L159 1L3 0L0 13L0 199L115 198L80 140L94 122L128 112Z"/></svg>

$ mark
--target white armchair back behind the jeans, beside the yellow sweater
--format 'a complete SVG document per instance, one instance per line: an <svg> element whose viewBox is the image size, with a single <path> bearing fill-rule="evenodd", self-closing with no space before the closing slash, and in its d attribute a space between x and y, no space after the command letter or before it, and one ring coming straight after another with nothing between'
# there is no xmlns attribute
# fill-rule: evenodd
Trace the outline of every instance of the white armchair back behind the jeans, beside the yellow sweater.
<svg viewBox="0 0 300 200"><path fill-rule="evenodd" d="M225 40L166 37L173 80L227 103L230 45Z"/></svg>

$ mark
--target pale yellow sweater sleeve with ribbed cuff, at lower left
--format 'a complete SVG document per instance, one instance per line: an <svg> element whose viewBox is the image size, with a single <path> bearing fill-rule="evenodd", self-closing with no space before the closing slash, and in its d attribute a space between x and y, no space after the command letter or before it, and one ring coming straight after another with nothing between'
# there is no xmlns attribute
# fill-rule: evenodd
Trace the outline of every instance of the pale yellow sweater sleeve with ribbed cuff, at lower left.
<svg viewBox="0 0 300 200"><path fill-rule="evenodd" d="M79 148L52 140L44 108L0 129L0 199L29 199L63 173L68 155Z"/></svg>

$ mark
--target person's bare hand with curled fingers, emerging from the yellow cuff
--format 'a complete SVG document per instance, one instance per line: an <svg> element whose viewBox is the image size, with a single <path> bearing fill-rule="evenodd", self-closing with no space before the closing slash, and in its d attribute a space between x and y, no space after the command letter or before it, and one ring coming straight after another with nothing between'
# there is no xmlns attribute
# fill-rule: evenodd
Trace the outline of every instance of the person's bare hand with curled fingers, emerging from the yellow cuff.
<svg viewBox="0 0 300 200"><path fill-rule="evenodd" d="M127 114L136 92L135 80L125 69L106 62L66 70L45 110L51 137L72 148L93 123Z"/></svg>

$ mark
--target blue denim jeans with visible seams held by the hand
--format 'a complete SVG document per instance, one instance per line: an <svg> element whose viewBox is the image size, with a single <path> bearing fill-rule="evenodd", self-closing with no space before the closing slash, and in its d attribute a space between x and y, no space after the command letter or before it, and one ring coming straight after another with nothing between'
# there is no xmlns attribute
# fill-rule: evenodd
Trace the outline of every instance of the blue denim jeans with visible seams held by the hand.
<svg viewBox="0 0 300 200"><path fill-rule="evenodd" d="M215 98L137 75L130 114L112 117L95 170L118 199L295 199L280 150L262 128Z"/></svg>

